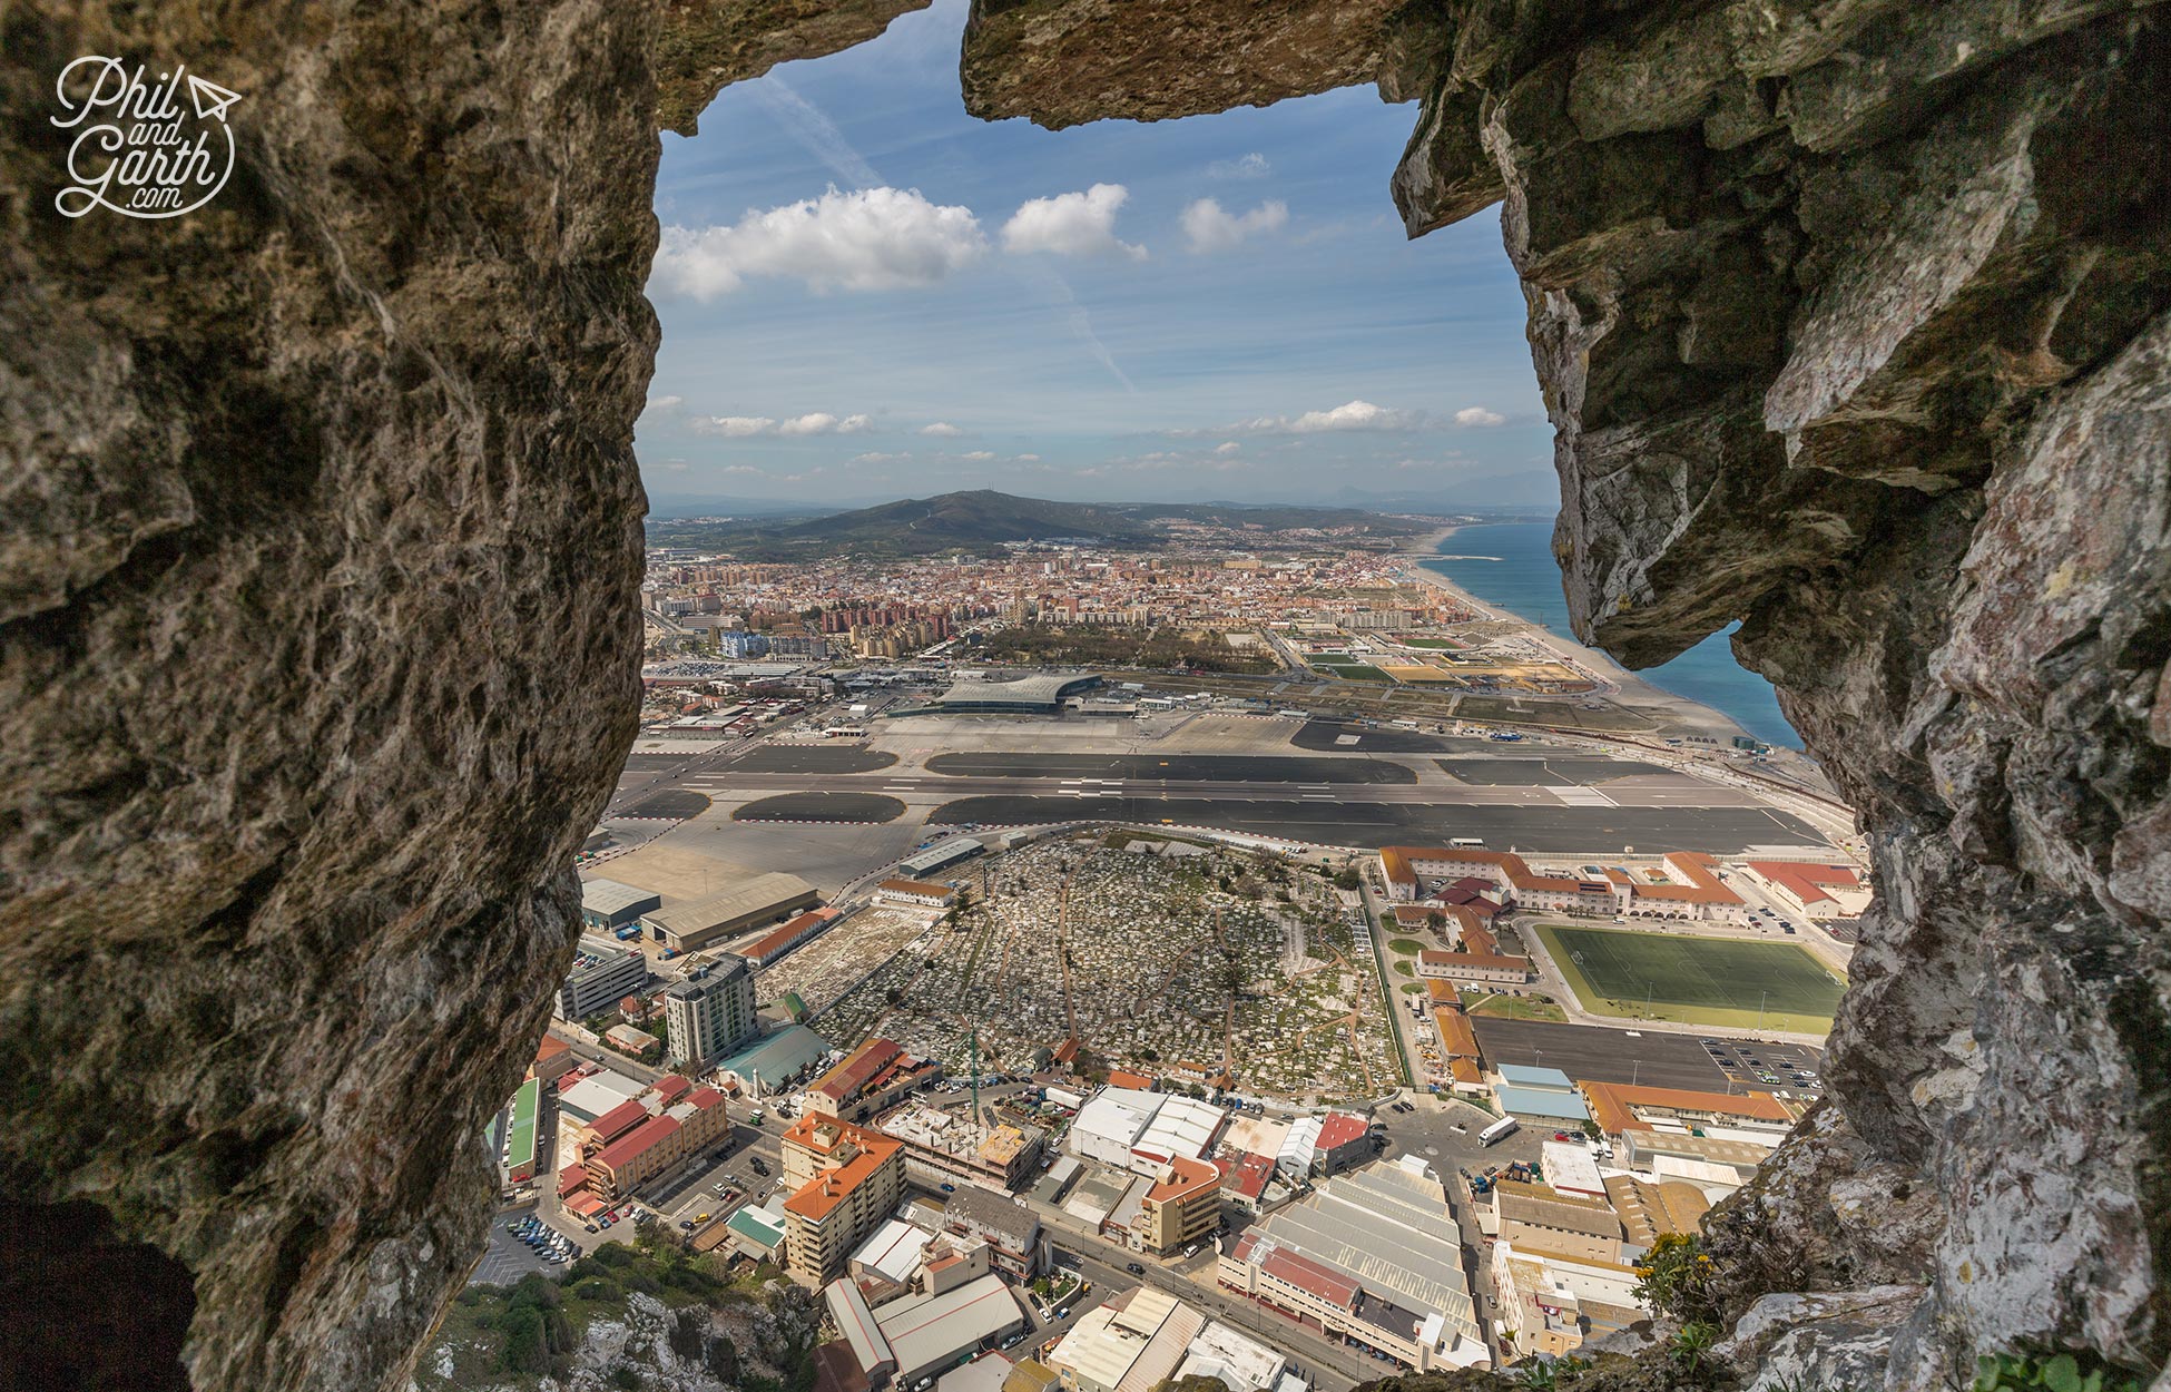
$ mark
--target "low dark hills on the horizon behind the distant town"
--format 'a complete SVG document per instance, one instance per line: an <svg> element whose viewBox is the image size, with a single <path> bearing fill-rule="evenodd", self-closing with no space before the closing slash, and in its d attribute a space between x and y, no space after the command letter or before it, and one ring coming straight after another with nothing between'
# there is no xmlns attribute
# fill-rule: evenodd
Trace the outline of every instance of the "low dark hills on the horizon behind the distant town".
<svg viewBox="0 0 2171 1392"><path fill-rule="evenodd" d="M992 552L1012 541L1081 539L1114 547L1155 547L1172 539L1172 521L1281 532L1290 528L1357 528L1372 536L1422 532L1422 521L1357 508L1287 508L1244 504L1083 504L1014 497L994 489L907 497L873 508L805 521L784 519L649 519L651 545L729 549L760 560L823 556L934 556Z"/></svg>

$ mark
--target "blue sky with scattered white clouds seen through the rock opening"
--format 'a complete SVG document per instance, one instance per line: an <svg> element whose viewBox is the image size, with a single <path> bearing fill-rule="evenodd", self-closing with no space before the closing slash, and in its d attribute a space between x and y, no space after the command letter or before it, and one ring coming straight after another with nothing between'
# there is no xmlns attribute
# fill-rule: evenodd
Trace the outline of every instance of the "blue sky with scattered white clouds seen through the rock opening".
<svg viewBox="0 0 2171 1392"><path fill-rule="evenodd" d="M1554 495L1498 217L1407 241L1387 198L1415 106L977 122L962 26L938 0L662 137L658 504Z"/></svg>

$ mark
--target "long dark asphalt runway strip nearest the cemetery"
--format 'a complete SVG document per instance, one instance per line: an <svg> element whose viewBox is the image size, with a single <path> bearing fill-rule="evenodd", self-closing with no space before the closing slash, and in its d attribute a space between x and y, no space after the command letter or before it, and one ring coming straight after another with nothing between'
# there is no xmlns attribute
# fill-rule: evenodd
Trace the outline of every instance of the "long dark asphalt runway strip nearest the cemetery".
<svg viewBox="0 0 2171 1392"><path fill-rule="evenodd" d="M1442 845L1476 838L1491 849L1531 853L1639 853L1711 851L1737 856L1765 845L1826 845L1815 827L1769 808L1591 808L1494 806L1429 801L1372 801L1350 790L1322 797L1140 797L1094 790L1070 797L990 795L942 803L927 821L944 825L1044 825L1057 821L1129 821L1138 825L1194 825L1281 836L1322 845L1383 847ZM1461 788L1457 788L1461 793Z"/></svg>

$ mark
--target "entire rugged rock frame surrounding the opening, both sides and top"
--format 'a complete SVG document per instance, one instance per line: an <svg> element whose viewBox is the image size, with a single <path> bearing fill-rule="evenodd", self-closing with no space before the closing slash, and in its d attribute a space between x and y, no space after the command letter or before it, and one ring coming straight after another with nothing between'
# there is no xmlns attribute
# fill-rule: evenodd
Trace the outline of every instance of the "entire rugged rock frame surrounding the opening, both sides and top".
<svg viewBox="0 0 2171 1392"><path fill-rule="evenodd" d="M905 9L0 13L0 1236L72 1296L0 1277L48 1312L33 1383L404 1375L632 736L656 130ZM1789 1368L2171 1349L2164 30L2117 0L970 20L983 115L1379 80L1422 100L1411 232L1505 206L1578 628L1654 662L1741 619L1876 847L1839 1105L1711 1238L1741 1346ZM54 213L78 54L243 93L213 206Z"/></svg>

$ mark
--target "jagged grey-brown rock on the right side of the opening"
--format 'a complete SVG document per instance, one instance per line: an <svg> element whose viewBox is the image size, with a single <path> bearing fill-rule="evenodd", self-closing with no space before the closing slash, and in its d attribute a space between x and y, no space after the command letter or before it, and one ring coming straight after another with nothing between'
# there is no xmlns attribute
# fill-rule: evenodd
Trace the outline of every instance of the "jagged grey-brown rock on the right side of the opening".
<svg viewBox="0 0 2171 1392"><path fill-rule="evenodd" d="M981 11L966 72L1001 83L968 100L1051 124L1159 115L1157 76L1196 80L1159 54L1220 15ZM1033 41L970 52L996 22ZM1839 1318L1882 1329L1850 1377L1871 1346L1904 1388L2017 1344L2160 1368L2171 13L1437 0L1381 33L1383 91L1422 98L1411 235L1502 204L1578 630L1650 665L1739 619L1871 836L1839 1112L1713 1225L1737 1314L1928 1277ZM1363 48L1316 43L1322 74ZM1079 50L1138 59L1120 89L1040 63ZM1828 1316L1791 1366L1821 1375Z"/></svg>

